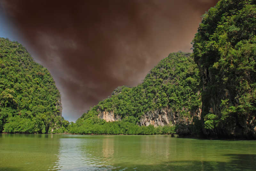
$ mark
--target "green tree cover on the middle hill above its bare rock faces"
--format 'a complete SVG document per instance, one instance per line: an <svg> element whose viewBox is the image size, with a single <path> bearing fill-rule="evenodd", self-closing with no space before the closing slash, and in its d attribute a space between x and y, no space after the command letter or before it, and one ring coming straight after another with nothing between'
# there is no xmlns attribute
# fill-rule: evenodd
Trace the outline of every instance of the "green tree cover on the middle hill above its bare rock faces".
<svg viewBox="0 0 256 171"><path fill-rule="evenodd" d="M120 93L100 101L92 110L140 118L145 112L171 107L187 115L200 107L199 70L189 53L171 53L161 60L136 87L123 86Z"/></svg>

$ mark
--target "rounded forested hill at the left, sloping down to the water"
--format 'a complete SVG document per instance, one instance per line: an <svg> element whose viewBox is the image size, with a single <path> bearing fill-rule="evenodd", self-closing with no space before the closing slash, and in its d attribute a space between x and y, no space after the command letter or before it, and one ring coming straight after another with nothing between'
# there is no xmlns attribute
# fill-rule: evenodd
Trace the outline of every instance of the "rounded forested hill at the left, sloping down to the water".
<svg viewBox="0 0 256 171"><path fill-rule="evenodd" d="M63 131L61 110L50 72L20 43L0 38L0 133Z"/></svg>

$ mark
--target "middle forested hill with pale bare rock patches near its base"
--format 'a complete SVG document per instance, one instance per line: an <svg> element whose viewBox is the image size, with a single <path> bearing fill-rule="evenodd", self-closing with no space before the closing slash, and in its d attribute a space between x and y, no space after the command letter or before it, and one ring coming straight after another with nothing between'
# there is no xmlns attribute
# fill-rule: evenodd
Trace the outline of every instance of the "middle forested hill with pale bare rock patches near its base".
<svg viewBox="0 0 256 171"><path fill-rule="evenodd" d="M111 97L82 115L71 132L95 133L88 125L104 125L100 119L146 126L191 123L194 116L200 117L201 94L199 70L190 55L171 53L148 73L143 83L132 88L118 87ZM127 129L119 133L127 133Z"/></svg>

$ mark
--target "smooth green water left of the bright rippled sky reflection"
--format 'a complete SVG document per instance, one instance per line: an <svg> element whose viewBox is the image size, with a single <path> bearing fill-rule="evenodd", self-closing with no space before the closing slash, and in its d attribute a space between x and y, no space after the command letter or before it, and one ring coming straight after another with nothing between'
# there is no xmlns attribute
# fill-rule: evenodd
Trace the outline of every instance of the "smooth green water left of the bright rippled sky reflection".
<svg viewBox="0 0 256 171"><path fill-rule="evenodd" d="M59 138L51 135L0 134L0 170L48 170L58 151Z"/></svg>

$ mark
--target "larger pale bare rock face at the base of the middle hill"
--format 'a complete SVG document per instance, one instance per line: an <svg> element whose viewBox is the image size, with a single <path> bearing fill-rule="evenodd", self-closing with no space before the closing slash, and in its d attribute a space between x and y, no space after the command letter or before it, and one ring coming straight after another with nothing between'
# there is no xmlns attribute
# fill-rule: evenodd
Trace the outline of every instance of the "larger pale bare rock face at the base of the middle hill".
<svg viewBox="0 0 256 171"><path fill-rule="evenodd" d="M180 116L180 112L173 112L170 108L162 108L161 110L154 110L145 113L141 116L139 125L176 125L176 124L189 124L192 122L193 117L201 116L201 109L191 113L189 116Z"/></svg>

